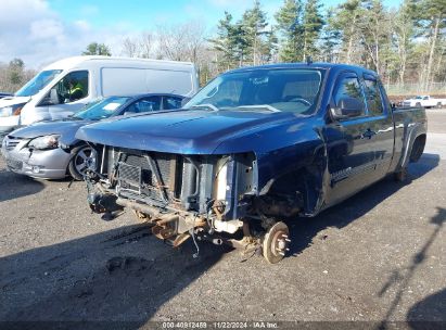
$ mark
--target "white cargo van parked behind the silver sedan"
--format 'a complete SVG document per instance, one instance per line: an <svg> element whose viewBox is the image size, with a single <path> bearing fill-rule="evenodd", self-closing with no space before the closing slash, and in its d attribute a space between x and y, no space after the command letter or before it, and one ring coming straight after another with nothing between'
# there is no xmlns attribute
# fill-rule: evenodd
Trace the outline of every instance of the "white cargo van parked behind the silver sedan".
<svg viewBox="0 0 446 330"><path fill-rule="evenodd" d="M35 122L64 118L110 96L199 90L193 63L110 56L75 56L43 68L13 97L0 100L0 135Z"/></svg>

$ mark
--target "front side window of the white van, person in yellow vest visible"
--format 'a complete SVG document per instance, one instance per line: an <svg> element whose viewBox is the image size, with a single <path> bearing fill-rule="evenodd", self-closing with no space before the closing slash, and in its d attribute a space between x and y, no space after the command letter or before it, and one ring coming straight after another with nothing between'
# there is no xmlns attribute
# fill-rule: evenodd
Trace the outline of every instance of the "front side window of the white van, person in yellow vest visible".
<svg viewBox="0 0 446 330"><path fill-rule="evenodd" d="M49 104L64 104L88 96L88 71L74 71L64 76L50 90Z"/></svg>

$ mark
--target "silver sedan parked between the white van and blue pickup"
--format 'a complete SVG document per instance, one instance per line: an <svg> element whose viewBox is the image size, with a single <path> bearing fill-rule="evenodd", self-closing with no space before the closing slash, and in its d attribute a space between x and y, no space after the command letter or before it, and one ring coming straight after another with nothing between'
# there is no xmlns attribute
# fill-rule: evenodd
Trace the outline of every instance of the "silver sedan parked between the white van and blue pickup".
<svg viewBox="0 0 446 330"><path fill-rule="evenodd" d="M160 93L110 97L87 105L69 118L14 130L3 139L1 152L8 168L14 173L43 179L71 175L81 180L88 168L97 166L94 150L75 138L81 126L111 117L178 109L182 99Z"/></svg>

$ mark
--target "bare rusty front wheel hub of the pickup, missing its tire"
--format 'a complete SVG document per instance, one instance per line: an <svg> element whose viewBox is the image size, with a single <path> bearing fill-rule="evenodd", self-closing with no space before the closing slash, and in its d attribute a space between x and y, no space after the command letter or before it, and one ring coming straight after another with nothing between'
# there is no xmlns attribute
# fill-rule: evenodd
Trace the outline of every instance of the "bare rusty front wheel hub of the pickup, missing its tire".
<svg viewBox="0 0 446 330"><path fill-rule="evenodd" d="M283 259L291 242L289 234L290 230L282 221L275 224L268 229L262 243L262 250L264 257L269 264L277 264Z"/></svg>

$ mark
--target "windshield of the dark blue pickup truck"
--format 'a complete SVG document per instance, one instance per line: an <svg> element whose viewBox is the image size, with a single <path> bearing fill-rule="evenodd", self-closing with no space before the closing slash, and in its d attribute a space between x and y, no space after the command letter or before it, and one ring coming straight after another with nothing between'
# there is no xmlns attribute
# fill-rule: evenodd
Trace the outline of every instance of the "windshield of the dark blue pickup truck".
<svg viewBox="0 0 446 330"><path fill-rule="evenodd" d="M324 71L275 68L224 74L199 91L184 109L315 112Z"/></svg>

